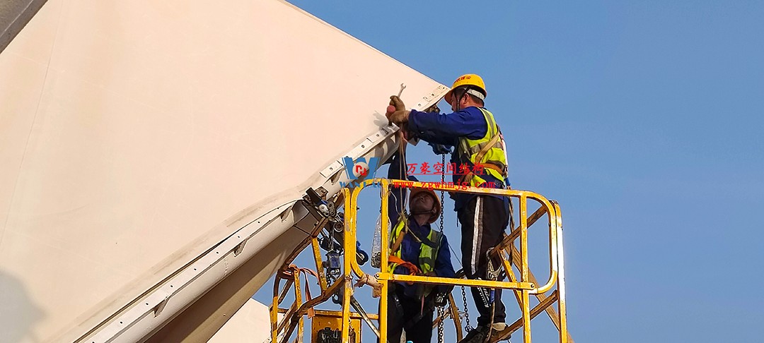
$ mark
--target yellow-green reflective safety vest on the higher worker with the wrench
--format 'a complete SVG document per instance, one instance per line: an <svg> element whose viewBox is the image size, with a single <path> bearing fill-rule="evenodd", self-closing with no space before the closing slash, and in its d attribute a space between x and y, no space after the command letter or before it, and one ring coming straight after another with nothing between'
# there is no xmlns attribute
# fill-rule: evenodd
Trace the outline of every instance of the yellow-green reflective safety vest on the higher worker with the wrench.
<svg viewBox="0 0 764 343"><path fill-rule="evenodd" d="M499 126L496 124L496 120L494 120L494 114L490 113L490 111L486 110L485 108L478 107L478 109L483 113L483 117L487 123L485 136L483 136L481 139L468 139L466 137L460 138L458 146L460 159L462 162L464 162L465 159L468 160L471 165L490 163L492 165L496 165L506 173L507 154L504 152L501 139L497 140L497 142L487 150L481 161L475 161L478 153L481 152L481 150L487 146L488 143L490 143L490 140L493 139L495 135L499 134ZM484 173L497 178L497 180L504 180L504 175L502 175L503 173L493 168L484 168ZM486 182L485 179L481 178L480 175L474 175L470 179L470 186L479 187L484 182Z"/></svg>

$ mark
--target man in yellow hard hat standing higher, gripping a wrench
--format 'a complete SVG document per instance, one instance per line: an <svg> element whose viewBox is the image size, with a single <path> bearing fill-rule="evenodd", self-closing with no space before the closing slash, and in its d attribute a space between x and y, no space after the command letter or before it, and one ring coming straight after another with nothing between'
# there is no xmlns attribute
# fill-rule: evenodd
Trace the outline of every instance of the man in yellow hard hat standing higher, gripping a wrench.
<svg viewBox="0 0 764 343"><path fill-rule="evenodd" d="M453 168L455 184L508 188L506 149L494 114L484 107L486 95L480 76L461 75L444 97L453 113L406 110L403 101L393 95L387 118L405 127L409 139L455 147L451 155L452 165L458 166ZM461 168L462 165L468 168ZM487 251L499 244L507 229L509 198L466 193L455 193L452 197L461 223L461 261L465 275L469 279L486 279ZM498 259L493 262L494 266L501 265ZM461 342L497 341L508 330L501 290L472 287L471 292L480 316L478 326Z"/></svg>

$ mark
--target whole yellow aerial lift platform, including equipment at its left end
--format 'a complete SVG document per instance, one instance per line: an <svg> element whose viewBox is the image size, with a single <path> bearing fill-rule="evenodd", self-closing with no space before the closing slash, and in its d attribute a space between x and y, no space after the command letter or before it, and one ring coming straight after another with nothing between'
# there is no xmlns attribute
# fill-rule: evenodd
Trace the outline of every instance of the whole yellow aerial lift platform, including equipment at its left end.
<svg viewBox="0 0 764 343"><path fill-rule="evenodd" d="M358 250L356 241L356 225L358 222L358 194L370 185L381 188L381 217L387 218L387 204L390 188L428 188L435 191L464 192L472 194L494 194L510 197L519 204L520 223L514 226L513 220L510 220L510 232L505 235L502 242L497 245L490 254L495 254L502 261L501 266L495 266L495 280L468 280L465 278L446 278L446 277L428 277L418 275L391 274L387 269L387 258L389 255L388 246L390 242L389 224L387 220L381 221L381 252L379 271L371 277L371 280L378 283L377 290L380 293L379 314L369 314L361 308L358 301L354 298L354 276L361 280L370 279L367 273L361 270L360 264L367 261L368 256ZM447 284L462 287L463 297L465 292L463 287L487 287L512 290L517 304L520 307L522 316L515 322L507 323L510 326L510 333L523 329L523 342L531 342L531 319L546 312L549 319L558 329L560 343L573 343L573 339L568 335L567 320L565 317L565 268L563 264L562 248L562 217L560 207L553 200L547 200L539 194L530 191L516 191L511 189L495 188L471 188L464 186L455 186L453 184L432 183L432 182L414 182L389 180L384 178L374 178L361 182L356 188L344 188L337 197L325 200L324 192L308 191L304 200L312 205L314 215L320 214L322 220L316 225L311 234L303 240L301 244L286 259L283 266L277 272L274 280L274 298L270 307L271 319L271 341L287 342L297 329L297 335L294 341L303 341L305 316L312 319L312 335L314 342L359 342L361 341L361 320L367 322L367 325L374 331L379 341L387 341L387 292L390 282L413 282L422 284ZM319 194L322 193L322 194ZM537 203L538 209L528 215L529 201L531 204ZM345 214L338 214L336 208L344 204ZM549 279L543 284L539 284L533 273L529 271L528 263L528 235L529 227L539 222L545 217L549 227ZM540 225L539 225L540 226ZM442 229L442 228L441 228ZM327 236L329 235L329 236ZM322 236L322 239L319 239ZM329 244L342 245L341 249L327 249ZM519 245L517 242L519 242ZM294 259L303 249L309 245L312 246L313 257L316 261L316 271L307 268L298 268L292 264ZM327 254L327 261L323 261L321 249L331 250L334 254ZM340 252L337 254L336 252ZM503 280L503 271L508 280ZM306 297L300 289L300 274L312 274L318 279L321 287L321 294L318 297L311 298L309 288L306 287ZM457 273L459 276L461 273ZM281 286L281 280L286 280L286 284ZM372 282L372 284L374 283ZM289 307L280 307L281 303L289 293L294 290L294 303ZM530 297L534 296L538 300L536 306L531 307ZM323 303L330 298L334 298L335 303L342 305L342 311L326 311L315 309L319 303ZM466 298L465 298L466 299ZM557 309L553 304L557 303ZM465 312L466 312L466 300ZM354 309L351 310L351 309ZM279 320L279 314L283 317ZM439 307L438 316L433 320L433 327L439 329L439 342L442 342L443 322L445 319L452 319L456 329L458 340L462 338L461 313L452 297L448 295L448 310ZM468 317L467 317L467 320ZM378 322L378 326L374 322ZM508 338L508 337L507 337ZM397 342L393 342L397 343Z"/></svg>

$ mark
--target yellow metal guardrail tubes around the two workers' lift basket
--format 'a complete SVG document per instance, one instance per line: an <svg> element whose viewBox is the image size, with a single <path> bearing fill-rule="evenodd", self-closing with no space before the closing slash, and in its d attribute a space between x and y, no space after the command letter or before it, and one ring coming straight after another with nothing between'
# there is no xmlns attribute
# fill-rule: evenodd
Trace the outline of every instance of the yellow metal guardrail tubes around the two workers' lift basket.
<svg viewBox="0 0 764 343"><path fill-rule="evenodd" d="M288 268L281 268L280 273L277 274L277 280L274 283L274 305L271 308L271 322L272 322L272 341L277 341L278 333L284 332L285 336L283 341L286 341L293 329L298 327L298 341L301 341L303 335L303 315L308 313L313 306L317 303L325 301L336 293L340 287L344 288L342 292L342 341L349 341L351 331L351 318L357 318L358 313L351 312L351 297L354 293L353 290L353 277L364 277L364 271L356 261L356 226L358 222L358 196L361 191L368 188L370 185L374 185L374 188L381 188L381 216L387 218L387 204L389 202L390 188L428 188L433 191L449 191L449 192L461 192L471 194L493 194L498 196L510 197L516 199L519 203L519 215L520 223L518 226L510 228L510 233L506 235L503 241L494 248L494 254L497 254L502 260L502 267L507 278L509 280L468 280L461 278L447 278L447 277L429 277L429 276L414 276L414 275L402 275L402 274L390 274L387 272L389 254L389 241L388 222L382 220L381 223L381 246L380 252L380 270L375 274L377 280L381 284L381 297L380 297L380 313L378 316L374 316L373 319L379 323L378 332L380 335L380 341L387 341L387 293L390 287L390 282L406 281L422 284L449 284L454 286L465 287L490 287L501 288L506 290L512 290L522 316L517 319L516 322L508 323L510 325L510 332L514 332L519 329L523 329L523 341L524 343L531 342L531 319L536 317L539 313L546 312L555 327L559 332L560 343L573 343L572 338L568 334L568 325L566 319L566 304L565 304L565 268L563 263L563 247L562 247L562 216L560 214L559 205L552 200L547 200L540 194L536 194L530 191L516 191L511 189L497 189L497 188L471 188L463 186L454 186L452 184L443 183L431 183L431 182L415 182L415 181L401 181L401 180L389 180L384 178L375 178L363 181L358 187L353 189L343 188L342 199L345 203L345 226L344 226L344 258L342 261L342 276L332 284L328 285L323 275L321 255L319 252L319 245L316 241L316 235L318 230L323 227L325 223L319 223L316 226L316 232L311 237L306 238L302 244L287 258L285 264L288 265L293 261L294 257L306 248L307 245L312 245L313 253L316 258L316 268L319 274L319 284L322 288L322 294L316 299L306 301L299 306L297 303L302 301L302 295L299 290L299 275L296 279L290 280L289 277L284 277L283 271ZM528 202L533 200L539 204L539 209L528 215ZM536 277L529 270L528 263L528 234L529 226L532 226L543 216L548 219L549 226L549 278L545 280L544 284L539 286ZM515 245L515 241L519 241L519 248ZM516 277L512 266L515 266L519 271L520 277ZM286 279L287 284L282 293L279 294L278 286L280 285L280 279ZM279 309L278 306L283 300L284 294L291 286L295 286L296 304L290 307L290 309ZM556 289L549 293L553 288ZM535 296L539 303L533 308L530 307L530 296ZM458 318L458 311L453 304L453 298L449 297L452 303L450 316L455 320L457 326L458 338L461 338L461 322ZM557 310L552 308L552 304L557 303ZM280 324L277 323L277 313L286 313L285 319ZM340 313L336 313L339 316ZM299 317L299 318L298 318ZM435 319L435 322L444 320L445 317ZM286 325L287 321L290 325ZM358 337L358 335L356 336Z"/></svg>

